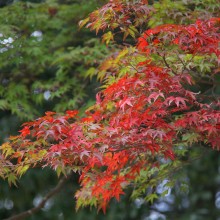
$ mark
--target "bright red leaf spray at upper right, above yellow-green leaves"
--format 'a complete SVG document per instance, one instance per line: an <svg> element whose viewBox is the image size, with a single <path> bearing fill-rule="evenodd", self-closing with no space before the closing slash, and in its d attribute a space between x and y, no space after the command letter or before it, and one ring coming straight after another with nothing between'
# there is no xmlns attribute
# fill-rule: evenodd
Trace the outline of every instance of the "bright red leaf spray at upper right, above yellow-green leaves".
<svg viewBox="0 0 220 220"><path fill-rule="evenodd" d="M220 56L219 51L219 18L211 18L207 21L197 20L191 25L161 25L149 29L139 38L138 48L147 53L155 52L158 47L167 45L178 45L185 53L215 53ZM154 47L149 48L149 42ZM160 48L161 50L161 48Z"/></svg>

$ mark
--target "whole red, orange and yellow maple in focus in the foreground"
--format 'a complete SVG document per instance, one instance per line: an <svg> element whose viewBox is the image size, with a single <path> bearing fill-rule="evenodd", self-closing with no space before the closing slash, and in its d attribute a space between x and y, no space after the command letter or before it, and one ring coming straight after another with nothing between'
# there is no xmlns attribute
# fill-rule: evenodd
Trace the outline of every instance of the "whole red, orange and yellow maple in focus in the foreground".
<svg viewBox="0 0 220 220"><path fill-rule="evenodd" d="M123 46L99 66L102 90L85 116L46 112L24 123L1 146L1 177L16 184L36 166L78 172L77 208L105 211L127 187L133 198L157 198L154 187L165 177L172 186L190 147L219 150L220 18L149 24L157 10L145 0L115 0L80 22L96 32L109 29L107 44L123 33L124 40L138 37L136 46ZM210 93L194 87L204 79Z"/></svg>

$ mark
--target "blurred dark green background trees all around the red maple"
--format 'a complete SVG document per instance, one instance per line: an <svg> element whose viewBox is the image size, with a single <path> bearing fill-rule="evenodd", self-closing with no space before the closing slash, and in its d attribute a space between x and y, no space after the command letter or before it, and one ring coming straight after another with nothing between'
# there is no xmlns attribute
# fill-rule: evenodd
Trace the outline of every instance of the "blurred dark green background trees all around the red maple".
<svg viewBox="0 0 220 220"><path fill-rule="evenodd" d="M79 30L78 22L104 2L0 1L1 142L16 134L22 122L37 118L45 111L81 108L83 112L94 102L96 88L100 84L88 76L93 75L100 62L116 51L117 46L106 47L95 33ZM184 7L184 2L188 2L187 7ZM161 22L190 22L184 20L184 14L189 10L194 11L194 17L199 16L198 11L202 11L204 16L208 13L219 16L220 10L218 3L212 0L193 3L155 1L155 4L158 13L152 17L150 26ZM220 81L219 76L216 80ZM205 83L198 86L203 91L209 89ZM220 94L219 87L215 94ZM168 195L154 204L141 198L130 201L128 191L120 203L112 201L106 215L89 209L76 213L73 196L78 187L78 176L74 175L61 193L29 219L217 220L220 216L219 152L204 148L191 153L201 156L190 165L186 163L176 174L180 175L179 183L169 188ZM18 188L10 188L1 180L1 219L37 205L57 182L56 174L48 169L28 172ZM162 182L157 190L161 190L164 184ZM180 185L184 185L185 190L183 187L180 189Z"/></svg>

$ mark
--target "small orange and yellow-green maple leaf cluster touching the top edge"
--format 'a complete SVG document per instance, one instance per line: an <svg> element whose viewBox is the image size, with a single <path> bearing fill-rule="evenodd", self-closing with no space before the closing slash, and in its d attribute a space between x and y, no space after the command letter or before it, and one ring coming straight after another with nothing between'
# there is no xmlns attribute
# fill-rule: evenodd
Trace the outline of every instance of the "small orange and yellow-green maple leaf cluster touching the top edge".
<svg viewBox="0 0 220 220"><path fill-rule="evenodd" d="M138 28L145 26L154 8L148 5L147 0L140 1L109 1L100 9L92 12L90 16L79 22L80 27L95 30L109 29L123 33L123 39L128 35L135 38L138 35ZM108 42L114 38L109 31L103 35L103 40Z"/></svg>

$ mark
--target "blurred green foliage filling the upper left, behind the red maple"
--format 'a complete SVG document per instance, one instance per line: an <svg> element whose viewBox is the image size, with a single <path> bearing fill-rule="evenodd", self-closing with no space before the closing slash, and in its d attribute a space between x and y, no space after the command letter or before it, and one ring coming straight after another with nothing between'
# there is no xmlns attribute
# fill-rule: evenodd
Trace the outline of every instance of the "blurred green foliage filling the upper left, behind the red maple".
<svg viewBox="0 0 220 220"><path fill-rule="evenodd" d="M93 34L78 31L79 11L87 14L95 5L48 0L0 9L2 112L30 120L48 108L64 111L83 105L90 86L85 72L108 54Z"/></svg>

